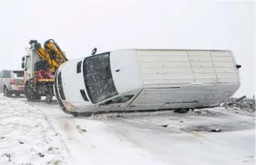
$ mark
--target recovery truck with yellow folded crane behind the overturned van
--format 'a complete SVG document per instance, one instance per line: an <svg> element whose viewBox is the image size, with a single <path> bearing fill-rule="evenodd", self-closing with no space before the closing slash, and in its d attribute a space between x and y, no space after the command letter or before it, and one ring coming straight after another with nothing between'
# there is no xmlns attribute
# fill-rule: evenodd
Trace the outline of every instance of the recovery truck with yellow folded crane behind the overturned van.
<svg viewBox="0 0 256 165"><path fill-rule="evenodd" d="M28 101L37 101L46 96L45 102L51 103L56 69L68 59L55 40L47 40L44 48L38 40L30 40L27 55L22 57L25 96Z"/></svg>

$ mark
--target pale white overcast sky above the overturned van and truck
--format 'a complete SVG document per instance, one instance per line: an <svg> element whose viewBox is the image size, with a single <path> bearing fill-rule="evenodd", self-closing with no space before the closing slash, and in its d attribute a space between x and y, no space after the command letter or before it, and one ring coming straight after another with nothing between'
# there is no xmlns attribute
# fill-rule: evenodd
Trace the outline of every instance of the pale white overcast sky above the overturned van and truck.
<svg viewBox="0 0 256 165"><path fill-rule="evenodd" d="M30 39L54 39L68 59L125 48L227 49L242 65L235 96L252 96L253 1L0 0L0 69L21 69Z"/></svg>

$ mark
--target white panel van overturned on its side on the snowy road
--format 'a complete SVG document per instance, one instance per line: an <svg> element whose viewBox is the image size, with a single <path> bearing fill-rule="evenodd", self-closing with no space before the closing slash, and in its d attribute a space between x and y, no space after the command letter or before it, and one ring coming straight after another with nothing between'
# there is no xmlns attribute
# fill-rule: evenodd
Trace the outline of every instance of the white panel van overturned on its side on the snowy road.
<svg viewBox="0 0 256 165"><path fill-rule="evenodd" d="M240 87L228 50L115 50L62 64L55 96L65 113L218 106Z"/></svg>

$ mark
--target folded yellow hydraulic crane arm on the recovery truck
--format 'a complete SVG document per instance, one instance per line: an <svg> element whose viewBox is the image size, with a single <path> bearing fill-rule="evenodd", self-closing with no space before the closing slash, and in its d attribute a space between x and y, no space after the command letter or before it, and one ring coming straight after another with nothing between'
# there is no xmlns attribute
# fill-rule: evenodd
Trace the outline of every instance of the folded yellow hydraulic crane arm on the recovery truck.
<svg viewBox="0 0 256 165"><path fill-rule="evenodd" d="M52 72L55 72L60 64L68 61L60 47L52 39L45 41L45 49L41 47L41 44L37 40L30 40L29 44L30 50L35 52L43 61L47 62Z"/></svg>

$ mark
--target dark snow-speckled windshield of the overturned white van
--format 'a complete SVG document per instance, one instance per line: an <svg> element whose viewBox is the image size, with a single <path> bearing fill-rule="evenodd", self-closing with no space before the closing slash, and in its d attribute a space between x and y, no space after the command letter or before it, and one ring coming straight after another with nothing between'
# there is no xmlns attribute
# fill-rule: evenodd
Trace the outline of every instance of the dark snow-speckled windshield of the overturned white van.
<svg viewBox="0 0 256 165"><path fill-rule="evenodd" d="M84 59L84 84L92 103L118 95L111 74L109 52Z"/></svg>

